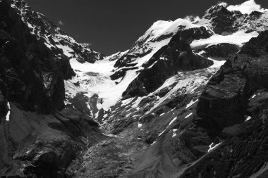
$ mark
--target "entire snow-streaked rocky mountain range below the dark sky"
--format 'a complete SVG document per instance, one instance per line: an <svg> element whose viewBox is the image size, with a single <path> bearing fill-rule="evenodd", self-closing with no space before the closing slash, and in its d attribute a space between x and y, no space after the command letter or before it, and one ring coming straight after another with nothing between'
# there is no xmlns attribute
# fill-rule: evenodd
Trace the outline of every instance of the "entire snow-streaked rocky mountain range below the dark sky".
<svg viewBox="0 0 268 178"><path fill-rule="evenodd" d="M267 13L219 3L105 57L1 1L1 177L267 177Z"/></svg>

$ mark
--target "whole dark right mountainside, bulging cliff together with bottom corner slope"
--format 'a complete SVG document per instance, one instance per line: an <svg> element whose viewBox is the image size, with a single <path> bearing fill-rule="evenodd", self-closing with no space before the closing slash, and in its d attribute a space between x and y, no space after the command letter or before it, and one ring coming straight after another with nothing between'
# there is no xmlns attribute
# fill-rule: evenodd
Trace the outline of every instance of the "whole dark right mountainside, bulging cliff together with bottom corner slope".
<svg viewBox="0 0 268 178"><path fill-rule="evenodd" d="M195 122L226 140L181 177L267 177L267 35L245 44L202 92Z"/></svg>

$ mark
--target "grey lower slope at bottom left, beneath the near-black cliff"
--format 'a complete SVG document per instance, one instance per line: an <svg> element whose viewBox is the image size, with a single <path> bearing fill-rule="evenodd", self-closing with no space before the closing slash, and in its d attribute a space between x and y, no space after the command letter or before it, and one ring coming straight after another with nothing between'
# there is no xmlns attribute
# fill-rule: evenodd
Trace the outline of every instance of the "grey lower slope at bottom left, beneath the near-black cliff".
<svg viewBox="0 0 268 178"><path fill-rule="evenodd" d="M73 177L69 166L80 151L104 138L96 122L73 108L37 115L11 104L10 120L0 123L0 177Z"/></svg>

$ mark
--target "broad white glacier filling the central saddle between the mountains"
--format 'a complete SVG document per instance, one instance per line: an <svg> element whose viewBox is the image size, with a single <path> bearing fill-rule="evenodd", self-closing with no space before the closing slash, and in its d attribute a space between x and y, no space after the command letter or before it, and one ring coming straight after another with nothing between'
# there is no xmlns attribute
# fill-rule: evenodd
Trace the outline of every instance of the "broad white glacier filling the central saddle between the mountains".
<svg viewBox="0 0 268 178"><path fill-rule="evenodd" d="M113 73L114 63L116 61L97 61L96 63L79 63L72 58L70 60L71 67L76 73L76 77L72 80L65 82L66 92L71 97L75 96L78 92L85 92L85 96L89 97L93 94L98 94L99 98L102 98L103 103L98 103L98 108L104 108L108 110L110 106L114 106L123 91L137 76L135 70L128 70L123 80L116 84L110 79L110 75ZM94 73L92 73L94 72ZM79 82L80 87L75 87L73 84Z"/></svg>

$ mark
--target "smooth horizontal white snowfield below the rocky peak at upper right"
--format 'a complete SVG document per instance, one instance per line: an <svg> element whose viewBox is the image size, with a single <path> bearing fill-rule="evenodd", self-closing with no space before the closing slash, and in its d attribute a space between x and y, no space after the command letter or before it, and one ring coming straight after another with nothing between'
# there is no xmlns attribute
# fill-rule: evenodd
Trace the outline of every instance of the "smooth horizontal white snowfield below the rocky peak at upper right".
<svg viewBox="0 0 268 178"><path fill-rule="evenodd" d="M192 49L205 48L214 44L229 43L243 46L245 42L248 42L252 37L257 37L257 32L245 33L244 31L238 31L229 35L214 34L208 39L194 40L190 46Z"/></svg>

